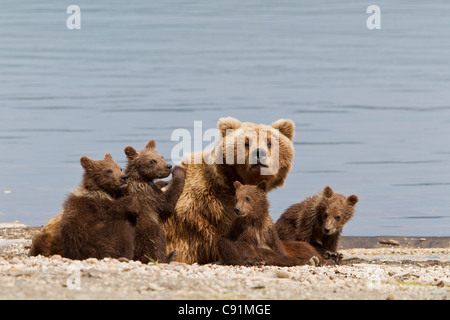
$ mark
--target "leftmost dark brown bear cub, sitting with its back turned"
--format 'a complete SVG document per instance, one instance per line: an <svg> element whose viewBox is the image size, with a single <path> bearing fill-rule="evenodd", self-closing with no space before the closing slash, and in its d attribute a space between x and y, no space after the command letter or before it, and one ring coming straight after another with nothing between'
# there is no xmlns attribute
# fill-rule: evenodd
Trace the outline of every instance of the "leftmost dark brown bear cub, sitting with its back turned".
<svg viewBox="0 0 450 320"><path fill-rule="evenodd" d="M63 256L132 259L139 202L123 196L128 177L110 154L99 161L82 157L80 162L85 170L82 184L69 195L61 217Z"/></svg>

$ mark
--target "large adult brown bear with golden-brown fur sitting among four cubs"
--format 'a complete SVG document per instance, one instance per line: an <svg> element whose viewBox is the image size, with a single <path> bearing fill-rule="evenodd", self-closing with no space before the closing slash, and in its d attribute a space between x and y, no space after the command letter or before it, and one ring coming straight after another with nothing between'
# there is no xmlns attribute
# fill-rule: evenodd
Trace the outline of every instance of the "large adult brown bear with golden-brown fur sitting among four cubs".
<svg viewBox="0 0 450 320"><path fill-rule="evenodd" d="M235 220L233 182L258 185L265 181L268 191L282 186L294 158L294 128L290 120L258 125L231 117L219 119L221 140L215 148L183 160L183 193L175 214L163 223L168 250L179 251L177 261L209 263L219 259L215 239L226 235ZM239 150L242 152L236 152ZM270 160L252 164L250 159L263 152ZM235 161L230 163L227 158Z"/></svg>

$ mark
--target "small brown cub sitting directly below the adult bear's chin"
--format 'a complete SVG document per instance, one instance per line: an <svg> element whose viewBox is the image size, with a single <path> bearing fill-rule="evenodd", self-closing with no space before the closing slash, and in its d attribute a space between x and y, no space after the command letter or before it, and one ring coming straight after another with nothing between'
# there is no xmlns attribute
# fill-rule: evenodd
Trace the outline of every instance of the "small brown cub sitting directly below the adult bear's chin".
<svg viewBox="0 0 450 320"><path fill-rule="evenodd" d="M296 254L289 257L281 243L269 215L266 182L258 186L234 183L236 188L236 219L229 233L217 241L221 261L231 265L294 266L317 264L320 255L307 243L298 242ZM303 249L301 248L303 245ZM315 253L315 255L314 255ZM316 256L314 258L314 256Z"/></svg>

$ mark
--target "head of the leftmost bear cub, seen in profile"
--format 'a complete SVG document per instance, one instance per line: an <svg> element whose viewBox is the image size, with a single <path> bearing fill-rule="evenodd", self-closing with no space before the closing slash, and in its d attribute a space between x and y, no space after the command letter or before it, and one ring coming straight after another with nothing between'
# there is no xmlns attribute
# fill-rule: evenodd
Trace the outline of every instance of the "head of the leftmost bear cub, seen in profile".
<svg viewBox="0 0 450 320"><path fill-rule="evenodd" d="M128 176L107 153L104 160L92 160L86 156L80 159L84 169L83 186L92 191L102 190L111 195L124 192L128 185Z"/></svg>

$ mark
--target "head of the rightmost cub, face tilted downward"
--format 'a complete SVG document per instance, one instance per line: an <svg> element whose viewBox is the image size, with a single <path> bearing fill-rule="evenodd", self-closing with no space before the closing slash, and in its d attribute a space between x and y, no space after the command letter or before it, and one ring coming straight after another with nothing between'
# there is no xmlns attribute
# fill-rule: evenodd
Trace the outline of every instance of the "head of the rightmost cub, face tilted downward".
<svg viewBox="0 0 450 320"><path fill-rule="evenodd" d="M328 186L323 189L322 196L323 233L332 235L336 232L342 232L344 225L353 217L358 197L356 195L345 197L333 192Z"/></svg>

